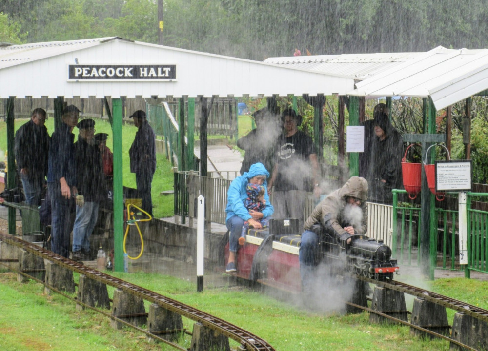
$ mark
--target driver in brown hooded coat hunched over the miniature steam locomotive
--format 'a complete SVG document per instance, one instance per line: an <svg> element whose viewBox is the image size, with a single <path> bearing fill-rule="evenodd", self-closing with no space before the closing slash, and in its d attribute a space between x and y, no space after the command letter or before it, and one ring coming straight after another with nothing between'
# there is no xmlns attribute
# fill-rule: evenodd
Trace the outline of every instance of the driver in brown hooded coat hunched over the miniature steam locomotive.
<svg viewBox="0 0 488 351"><path fill-rule="evenodd" d="M305 221L299 252L304 293L310 292L315 269L320 263L320 237L312 231L313 227L324 230L343 245L350 243L350 235L366 234L367 190L366 179L353 176L342 188L325 197Z"/></svg>

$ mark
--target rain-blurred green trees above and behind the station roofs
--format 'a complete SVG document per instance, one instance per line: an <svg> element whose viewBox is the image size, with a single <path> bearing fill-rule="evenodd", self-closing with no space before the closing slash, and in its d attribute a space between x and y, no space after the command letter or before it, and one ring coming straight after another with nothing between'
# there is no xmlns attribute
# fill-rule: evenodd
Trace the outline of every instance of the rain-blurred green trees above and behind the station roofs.
<svg viewBox="0 0 488 351"><path fill-rule="evenodd" d="M156 43L156 0L9 0L27 42L119 36ZM485 0L165 0L165 45L262 60L487 47Z"/></svg>

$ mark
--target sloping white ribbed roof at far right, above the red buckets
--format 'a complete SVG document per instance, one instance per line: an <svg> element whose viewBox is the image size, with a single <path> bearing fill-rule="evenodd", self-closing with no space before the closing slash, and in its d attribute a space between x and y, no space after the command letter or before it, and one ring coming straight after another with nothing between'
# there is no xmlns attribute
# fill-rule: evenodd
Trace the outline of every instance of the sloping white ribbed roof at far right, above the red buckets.
<svg viewBox="0 0 488 351"><path fill-rule="evenodd" d="M488 50L439 46L356 83L348 95L430 96L437 110L488 89Z"/></svg>

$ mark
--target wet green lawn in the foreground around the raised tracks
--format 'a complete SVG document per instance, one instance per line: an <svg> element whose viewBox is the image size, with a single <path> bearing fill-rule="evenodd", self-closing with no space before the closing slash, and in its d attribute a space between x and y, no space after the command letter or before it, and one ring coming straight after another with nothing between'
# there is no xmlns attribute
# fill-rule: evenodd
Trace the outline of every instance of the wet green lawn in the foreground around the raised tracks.
<svg viewBox="0 0 488 351"><path fill-rule="evenodd" d="M412 338L408 327L370 324L367 313L323 315L242 287L205 289L197 293L194 284L174 277L153 273L113 274L223 318L264 338L280 351L449 348L446 341ZM15 278L13 273L0 274L2 350L171 350L146 343L138 332L114 330L108 318L89 310L76 311L74 303L64 297L44 295L41 284L18 283ZM488 309L488 282L438 279L430 282L430 289ZM109 295L112 293L113 289L109 288ZM448 315L452 324L450 310ZM183 318L183 325L192 331L191 320ZM188 347L191 336L184 336L184 340ZM231 342L231 346L237 344Z"/></svg>

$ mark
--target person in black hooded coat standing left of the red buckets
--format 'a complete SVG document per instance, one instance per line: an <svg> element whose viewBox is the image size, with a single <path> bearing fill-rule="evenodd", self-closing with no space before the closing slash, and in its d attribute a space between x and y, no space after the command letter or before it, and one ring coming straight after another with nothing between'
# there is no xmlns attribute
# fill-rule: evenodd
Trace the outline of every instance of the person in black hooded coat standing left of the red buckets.
<svg viewBox="0 0 488 351"><path fill-rule="evenodd" d="M391 125L388 115L379 113L373 119L369 157L364 177L369 184L369 200L391 204L392 189L402 187L402 135Z"/></svg>

